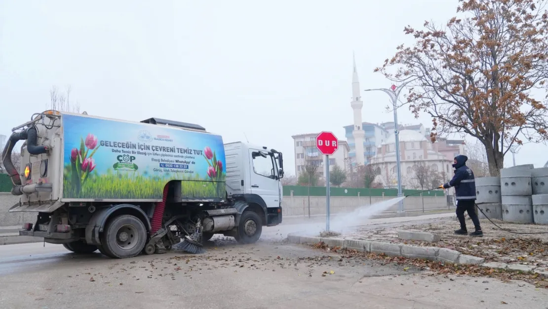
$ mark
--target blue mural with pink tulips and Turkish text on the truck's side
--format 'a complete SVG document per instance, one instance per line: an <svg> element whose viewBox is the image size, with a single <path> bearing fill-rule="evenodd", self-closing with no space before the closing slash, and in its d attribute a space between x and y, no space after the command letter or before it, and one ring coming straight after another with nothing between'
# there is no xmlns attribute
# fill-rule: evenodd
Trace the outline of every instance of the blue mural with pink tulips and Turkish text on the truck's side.
<svg viewBox="0 0 548 309"><path fill-rule="evenodd" d="M185 198L225 197L220 136L75 115L63 126L63 198L160 200L171 180Z"/></svg>

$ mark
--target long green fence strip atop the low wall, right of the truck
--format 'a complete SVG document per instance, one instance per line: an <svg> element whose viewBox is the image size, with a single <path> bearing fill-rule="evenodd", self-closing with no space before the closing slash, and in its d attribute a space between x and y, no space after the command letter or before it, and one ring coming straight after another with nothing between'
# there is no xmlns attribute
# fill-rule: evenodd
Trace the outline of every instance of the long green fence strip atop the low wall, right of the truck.
<svg viewBox="0 0 548 309"><path fill-rule="evenodd" d="M368 189L368 188L338 188L331 187L331 196L398 196L397 189ZM293 191L294 196L326 196L326 187L302 187L302 186L284 186L283 195L289 196ZM403 195L418 193L421 190L402 190ZM444 196L443 190L432 190L423 193L427 196Z"/></svg>

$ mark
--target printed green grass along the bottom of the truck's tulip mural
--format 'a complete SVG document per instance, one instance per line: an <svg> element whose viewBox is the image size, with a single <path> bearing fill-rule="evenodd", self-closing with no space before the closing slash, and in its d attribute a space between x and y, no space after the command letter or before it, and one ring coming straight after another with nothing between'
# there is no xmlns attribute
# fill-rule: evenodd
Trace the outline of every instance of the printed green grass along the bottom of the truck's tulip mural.
<svg viewBox="0 0 548 309"><path fill-rule="evenodd" d="M186 177L151 177L133 173L113 173L96 175L92 173L82 184L80 192L65 172L64 198L75 199L162 199L163 189L172 179L181 180L182 195L186 198L224 197L224 182L204 181L199 175ZM221 194L218 192L222 192Z"/></svg>

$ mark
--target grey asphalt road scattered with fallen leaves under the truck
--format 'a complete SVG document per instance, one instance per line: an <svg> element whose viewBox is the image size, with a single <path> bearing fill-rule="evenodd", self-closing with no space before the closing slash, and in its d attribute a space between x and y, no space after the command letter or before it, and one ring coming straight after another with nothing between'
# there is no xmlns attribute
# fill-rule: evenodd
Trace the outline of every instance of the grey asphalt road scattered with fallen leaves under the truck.
<svg viewBox="0 0 548 309"><path fill-rule="evenodd" d="M548 302L546 290L525 283L430 276L284 244L288 229L299 228L267 228L253 245L214 238L204 255L124 260L77 256L61 245L0 246L0 308L545 308Z"/></svg>

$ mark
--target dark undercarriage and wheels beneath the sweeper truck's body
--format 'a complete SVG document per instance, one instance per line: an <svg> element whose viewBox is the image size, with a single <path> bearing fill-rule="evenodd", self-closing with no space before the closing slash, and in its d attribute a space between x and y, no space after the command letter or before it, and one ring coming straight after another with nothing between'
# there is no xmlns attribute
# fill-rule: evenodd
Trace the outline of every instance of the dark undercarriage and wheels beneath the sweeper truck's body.
<svg viewBox="0 0 548 309"><path fill-rule="evenodd" d="M214 234L234 237L238 243L254 243L262 226L281 223L281 207L265 214L256 204L235 200L221 203L173 203L163 209L159 228L151 222L158 211L155 203L97 204L67 203L52 213L39 212L37 221L25 223L20 235L43 237L44 241L63 244L66 249L87 254L99 250L115 258L142 253L163 253L183 239L210 240ZM159 204L159 203L157 203ZM197 231L196 224L202 228Z"/></svg>

